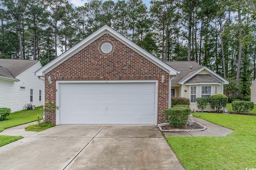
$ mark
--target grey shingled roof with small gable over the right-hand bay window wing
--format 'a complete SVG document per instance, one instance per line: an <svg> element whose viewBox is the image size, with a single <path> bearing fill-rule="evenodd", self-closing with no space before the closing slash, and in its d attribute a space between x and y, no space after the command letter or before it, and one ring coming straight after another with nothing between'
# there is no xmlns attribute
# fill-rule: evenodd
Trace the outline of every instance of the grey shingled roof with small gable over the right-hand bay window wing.
<svg viewBox="0 0 256 170"><path fill-rule="evenodd" d="M206 81L207 82L209 82L209 81L216 82L216 80L217 80L218 82L228 84L227 80L225 80L224 78L222 78L221 76L219 76L218 74L216 74L215 72L210 70L210 68L208 68L206 66L201 66L198 63L196 63L195 61L168 61L168 62L166 62L166 64L170 65L175 70L180 71L180 74L176 75L176 78L174 78L172 80L172 83L184 84L184 83L188 82L190 79L192 79L194 76L196 76L196 74L198 74L202 70L207 70L208 72L210 72L210 75L212 77L208 76L207 77L208 79L200 80L200 82L206 82ZM198 78L198 77L196 77L196 78ZM209 80L209 78L212 78L212 80ZM200 82L198 82L198 83L200 83Z"/></svg>

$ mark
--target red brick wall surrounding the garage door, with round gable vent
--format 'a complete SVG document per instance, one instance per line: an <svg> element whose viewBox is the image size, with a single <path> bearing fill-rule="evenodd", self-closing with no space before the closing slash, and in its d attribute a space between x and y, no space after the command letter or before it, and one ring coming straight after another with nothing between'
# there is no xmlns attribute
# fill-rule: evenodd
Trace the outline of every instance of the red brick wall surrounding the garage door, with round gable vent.
<svg viewBox="0 0 256 170"><path fill-rule="evenodd" d="M108 54L101 44L113 45ZM164 75L164 83L161 76ZM168 108L169 74L110 35L103 35L90 45L48 72L52 84L45 81L45 101L56 104L56 80L158 80L158 118L164 123L164 109ZM56 113L46 121L56 123Z"/></svg>

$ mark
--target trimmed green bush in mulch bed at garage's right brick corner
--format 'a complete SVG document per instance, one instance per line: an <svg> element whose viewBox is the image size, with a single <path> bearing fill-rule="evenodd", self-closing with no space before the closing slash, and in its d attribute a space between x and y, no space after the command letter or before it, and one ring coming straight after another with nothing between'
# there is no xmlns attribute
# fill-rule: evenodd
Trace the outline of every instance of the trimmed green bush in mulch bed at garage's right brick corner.
<svg viewBox="0 0 256 170"><path fill-rule="evenodd" d="M189 107L172 107L164 110L164 119L172 127L182 127L187 124L189 113Z"/></svg>

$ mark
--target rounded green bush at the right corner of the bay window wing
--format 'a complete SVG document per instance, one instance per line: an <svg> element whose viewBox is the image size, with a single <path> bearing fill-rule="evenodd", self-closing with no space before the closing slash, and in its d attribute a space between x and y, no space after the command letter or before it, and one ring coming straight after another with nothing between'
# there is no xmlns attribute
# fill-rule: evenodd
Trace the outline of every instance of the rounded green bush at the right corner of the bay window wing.
<svg viewBox="0 0 256 170"><path fill-rule="evenodd" d="M224 94L215 94L210 96L209 102L211 104L211 107L213 109L216 108L216 111L220 113L222 107L225 107L227 105L228 97Z"/></svg>

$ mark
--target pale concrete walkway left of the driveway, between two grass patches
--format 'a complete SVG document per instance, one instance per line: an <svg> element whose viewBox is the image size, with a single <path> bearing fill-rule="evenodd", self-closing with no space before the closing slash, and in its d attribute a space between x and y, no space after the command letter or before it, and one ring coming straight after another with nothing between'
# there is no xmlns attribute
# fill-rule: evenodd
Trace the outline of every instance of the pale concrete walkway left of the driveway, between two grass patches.
<svg viewBox="0 0 256 170"><path fill-rule="evenodd" d="M19 125L19 126L11 127L8 129L4 129L4 131L0 132L0 135L27 137L37 132L25 131L25 127L27 127L28 125L36 124L36 123L37 121L34 121L34 122L26 123L24 125Z"/></svg>

